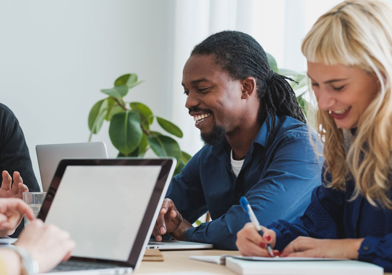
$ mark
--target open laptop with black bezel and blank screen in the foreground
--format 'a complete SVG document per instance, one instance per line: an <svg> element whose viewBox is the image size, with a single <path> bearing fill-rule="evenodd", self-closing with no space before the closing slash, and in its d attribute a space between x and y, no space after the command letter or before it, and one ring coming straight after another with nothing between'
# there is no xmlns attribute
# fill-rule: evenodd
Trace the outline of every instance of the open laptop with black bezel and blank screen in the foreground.
<svg viewBox="0 0 392 275"><path fill-rule="evenodd" d="M68 231L76 247L51 274L135 270L175 167L172 158L62 160L38 218Z"/></svg>

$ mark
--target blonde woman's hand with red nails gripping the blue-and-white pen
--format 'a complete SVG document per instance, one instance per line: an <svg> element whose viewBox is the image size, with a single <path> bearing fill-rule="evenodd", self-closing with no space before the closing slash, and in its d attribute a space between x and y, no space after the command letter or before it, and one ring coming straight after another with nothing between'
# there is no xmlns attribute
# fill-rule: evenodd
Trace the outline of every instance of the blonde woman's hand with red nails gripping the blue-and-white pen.
<svg viewBox="0 0 392 275"><path fill-rule="evenodd" d="M275 246L276 234L273 230L261 227L264 232L262 237L252 222L248 222L244 228L238 231L236 245L242 256L271 257L266 247L267 243L272 248ZM279 251L273 250L273 254L277 256Z"/></svg>

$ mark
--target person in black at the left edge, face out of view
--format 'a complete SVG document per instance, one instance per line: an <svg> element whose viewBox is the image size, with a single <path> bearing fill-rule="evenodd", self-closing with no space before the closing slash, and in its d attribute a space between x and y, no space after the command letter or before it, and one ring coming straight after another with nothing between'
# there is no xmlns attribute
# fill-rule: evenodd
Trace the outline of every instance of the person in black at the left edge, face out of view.
<svg viewBox="0 0 392 275"><path fill-rule="evenodd" d="M13 182L23 182L21 177L25 180L24 184L18 184L20 187L12 184L11 189L10 176L8 173L1 173L0 198L22 198L22 189L30 192L40 191L19 121L14 113L3 104L0 104L0 171L8 171L13 175ZM19 224L11 237L17 237L22 229L23 222Z"/></svg>

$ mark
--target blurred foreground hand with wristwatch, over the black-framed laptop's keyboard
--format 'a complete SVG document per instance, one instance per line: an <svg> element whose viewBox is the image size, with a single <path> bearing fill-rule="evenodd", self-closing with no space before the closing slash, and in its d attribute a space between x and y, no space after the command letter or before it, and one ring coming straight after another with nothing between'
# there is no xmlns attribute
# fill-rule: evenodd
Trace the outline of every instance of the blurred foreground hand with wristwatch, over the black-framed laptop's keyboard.
<svg viewBox="0 0 392 275"><path fill-rule="evenodd" d="M16 245L30 252L43 273L68 260L75 242L69 238L68 232L36 219L22 231Z"/></svg>

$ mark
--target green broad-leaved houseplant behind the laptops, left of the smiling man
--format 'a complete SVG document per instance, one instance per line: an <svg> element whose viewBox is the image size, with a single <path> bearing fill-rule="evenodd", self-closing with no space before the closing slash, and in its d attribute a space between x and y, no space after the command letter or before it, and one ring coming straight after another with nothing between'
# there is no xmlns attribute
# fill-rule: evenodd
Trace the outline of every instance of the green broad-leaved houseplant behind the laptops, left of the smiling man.
<svg viewBox="0 0 392 275"><path fill-rule="evenodd" d="M118 77L114 87L102 89L107 95L94 104L88 115L89 141L97 134L104 121L109 121L109 136L114 147L119 150L118 157L143 157L151 149L158 157L174 157L178 174L191 156L181 151L175 139L150 129L154 118L167 133L178 138L183 137L181 129L163 117L156 116L150 108L140 102L126 102L124 97L129 90L143 81L137 75L129 73Z"/></svg>

